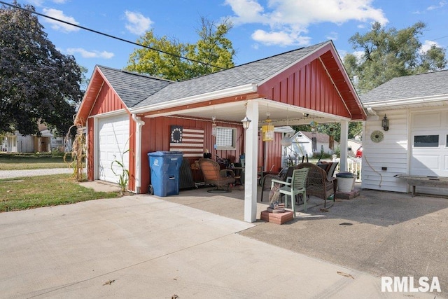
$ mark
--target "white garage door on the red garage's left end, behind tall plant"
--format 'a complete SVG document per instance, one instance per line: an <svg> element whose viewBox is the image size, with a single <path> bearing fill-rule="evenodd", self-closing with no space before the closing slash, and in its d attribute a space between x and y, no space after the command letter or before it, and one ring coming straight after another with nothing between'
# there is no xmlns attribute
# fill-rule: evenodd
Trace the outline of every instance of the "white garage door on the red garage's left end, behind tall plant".
<svg viewBox="0 0 448 299"><path fill-rule="evenodd" d="M128 115L98 119L98 179L118 183L123 169L116 162L112 165L115 160L129 169L129 126Z"/></svg>

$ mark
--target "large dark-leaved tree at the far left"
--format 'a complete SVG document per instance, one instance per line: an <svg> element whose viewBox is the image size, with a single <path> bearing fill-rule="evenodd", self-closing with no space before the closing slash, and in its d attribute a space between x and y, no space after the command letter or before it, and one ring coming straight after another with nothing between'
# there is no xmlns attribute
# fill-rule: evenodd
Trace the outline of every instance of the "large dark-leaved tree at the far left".
<svg viewBox="0 0 448 299"><path fill-rule="evenodd" d="M38 122L61 134L73 124L81 71L59 53L29 11L0 7L0 132L38 134Z"/></svg>

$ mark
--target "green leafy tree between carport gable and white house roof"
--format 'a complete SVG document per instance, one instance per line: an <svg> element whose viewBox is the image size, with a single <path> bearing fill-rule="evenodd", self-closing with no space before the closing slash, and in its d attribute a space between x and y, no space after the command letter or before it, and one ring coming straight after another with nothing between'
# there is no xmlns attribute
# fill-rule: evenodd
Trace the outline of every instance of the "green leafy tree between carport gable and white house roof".
<svg viewBox="0 0 448 299"><path fill-rule="evenodd" d="M405 29L386 30L376 22L370 32L351 36L353 49L362 49L363 55L346 55L344 65L358 92L372 90L395 77L443 69L447 65L443 48L433 46L421 52L418 38L425 28L423 22L416 22Z"/></svg>

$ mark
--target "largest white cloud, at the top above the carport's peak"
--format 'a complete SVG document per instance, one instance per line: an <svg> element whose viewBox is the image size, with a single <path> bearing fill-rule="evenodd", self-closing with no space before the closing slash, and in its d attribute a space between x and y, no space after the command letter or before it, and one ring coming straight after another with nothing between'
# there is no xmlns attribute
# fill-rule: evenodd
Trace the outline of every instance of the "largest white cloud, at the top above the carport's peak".
<svg viewBox="0 0 448 299"><path fill-rule="evenodd" d="M266 7L258 0L225 0L225 4L235 13L231 19L235 25L269 26L269 32L257 29L252 34L255 41L268 45L307 46L309 25L322 22L388 22L384 12L372 6L372 0L269 0Z"/></svg>

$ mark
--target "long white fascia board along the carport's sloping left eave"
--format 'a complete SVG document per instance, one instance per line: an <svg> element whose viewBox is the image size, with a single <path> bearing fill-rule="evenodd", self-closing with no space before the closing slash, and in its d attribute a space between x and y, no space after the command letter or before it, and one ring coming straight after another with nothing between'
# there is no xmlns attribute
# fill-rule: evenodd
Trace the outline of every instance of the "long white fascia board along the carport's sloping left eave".
<svg viewBox="0 0 448 299"><path fill-rule="evenodd" d="M181 99L174 99L172 101L162 102L158 104L139 107L137 109L130 109L131 113L146 113L150 111L157 111L162 109L175 108L179 105L197 104L200 102L206 102L212 99L220 99L223 97L232 97L237 95L244 95L246 93L256 92L257 85L249 83L246 85L240 85L235 88L227 88L225 90L216 90L214 92L207 92L202 95L193 95L191 97L183 97Z"/></svg>

